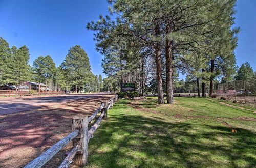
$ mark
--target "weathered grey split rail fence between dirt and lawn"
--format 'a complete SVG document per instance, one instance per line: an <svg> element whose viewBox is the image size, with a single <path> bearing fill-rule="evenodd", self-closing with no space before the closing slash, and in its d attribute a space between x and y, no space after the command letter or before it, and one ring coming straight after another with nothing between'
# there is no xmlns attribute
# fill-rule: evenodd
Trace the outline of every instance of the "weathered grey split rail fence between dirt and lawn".
<svg viewBox="0 0 256 168"><path fill-rule="evenodd" d="M90 117L87 116L75 116L72 118L72 131L66 137L61 139L46 152L35 158L25 168L41 167L46 164L56 153L58 153L63 147L65 147L71 140L73 142L73 149L68 156L63 160L59 167L69 167L69 164L73 162L74 165L83 167L87 163L88 157L88 142L93 138L93 134L100 126L102 118L108 117L108 109L113 107L118 100L118 96L115 95L108 102L102 102L100 107ZM101 111L95 124L88 130L88 123L90 123Z"/></svg>

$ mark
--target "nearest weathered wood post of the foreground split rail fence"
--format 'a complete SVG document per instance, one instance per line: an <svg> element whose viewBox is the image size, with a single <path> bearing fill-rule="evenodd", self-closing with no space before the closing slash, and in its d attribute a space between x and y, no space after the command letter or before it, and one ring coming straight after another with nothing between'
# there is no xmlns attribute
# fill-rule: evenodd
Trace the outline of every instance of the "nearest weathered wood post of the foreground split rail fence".
<svg viewBox="0 0 256 168"><path fill-rule="evenodd" d="M73 163L84 167L88 157L88 117L75 116L72 118L72 130L78 130L79 134L72 140L73 146L79 145L79 150L74 156Z"/></svg>

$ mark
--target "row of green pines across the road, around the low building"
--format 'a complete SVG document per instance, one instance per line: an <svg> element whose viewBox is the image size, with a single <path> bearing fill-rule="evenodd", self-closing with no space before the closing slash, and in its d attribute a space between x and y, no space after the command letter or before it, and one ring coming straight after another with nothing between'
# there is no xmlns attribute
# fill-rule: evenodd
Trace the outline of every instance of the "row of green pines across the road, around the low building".
<svg viewBox="0 0 256 168"><path fill-rule="evenodd" d="M38 57L29 65L29 49L26 45L17 49L0 37L0 86L18 85L23 81L45 83L55 91L72 90L80 93L100 92L103 89L101 75L94 75L87 53L79 46L71 47L65 60L56 67L50 55Z"/></svg>

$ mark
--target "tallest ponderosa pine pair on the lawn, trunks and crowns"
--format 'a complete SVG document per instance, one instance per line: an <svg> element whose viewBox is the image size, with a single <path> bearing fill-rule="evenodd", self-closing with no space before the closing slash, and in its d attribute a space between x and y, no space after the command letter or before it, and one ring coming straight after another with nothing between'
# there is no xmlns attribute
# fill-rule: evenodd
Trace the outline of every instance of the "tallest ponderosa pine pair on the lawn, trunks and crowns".
<svg viewBox="0 0 256 168"><path fill-rule="evenodd" d="M233 6L236 1L156 1L156 0L113 0L111 11L117 13L116 22L109 17L100 17L97 23L91 22L88 28L97 31L97 47L111 50L118 41L136 41L154 49L158 102L163 101L161 78L161 55L166 60L167 103L174 103L173 72L177 62L185 64L186 58L181 52L211 50L216 40L211 34L218 30L218 24L232 21ZM224 18L224 19L223 19ZM231 18L231 19L229 19ZM223 29L229 29L228 26ZM220 37L220 36L218 36ZM163 47L165 46L165 47ZM124 47L125 48L125 47ZM201 51L202 52L202 51ZM206 53L207 54L207 53ZM179 67L177 67L179 68Z"/></svg>

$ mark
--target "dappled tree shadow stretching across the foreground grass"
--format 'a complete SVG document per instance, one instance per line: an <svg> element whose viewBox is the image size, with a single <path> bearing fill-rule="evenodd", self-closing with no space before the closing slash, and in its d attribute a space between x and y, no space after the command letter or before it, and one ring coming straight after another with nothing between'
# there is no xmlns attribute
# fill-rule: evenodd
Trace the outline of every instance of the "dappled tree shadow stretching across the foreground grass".
<svg viewBox="0 0 256 168"><path fill-rule="evenodd" d="M253 167L254 138L246 129L115 114L90 140L88 167Z"/></svg>

